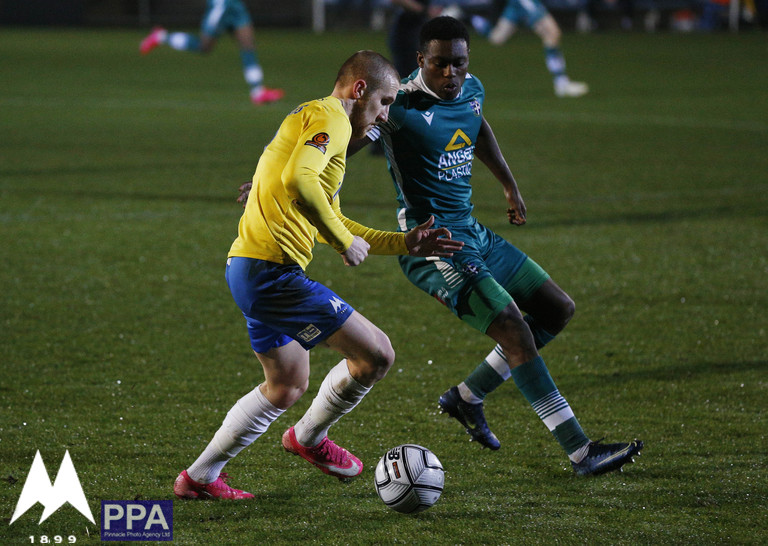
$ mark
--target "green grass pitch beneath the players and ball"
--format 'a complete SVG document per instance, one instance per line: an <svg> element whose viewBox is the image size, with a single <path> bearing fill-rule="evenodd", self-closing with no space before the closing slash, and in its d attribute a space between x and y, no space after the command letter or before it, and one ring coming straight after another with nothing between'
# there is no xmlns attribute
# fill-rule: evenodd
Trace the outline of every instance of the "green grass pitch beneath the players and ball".
<svg viewBox="0 0 768 546"><path fill-rule="evenodd" d="M236 188L289 108L330 93L340 63L385 36L259 33L281 104L252 107L236 51L137 53L131 31L0 33L0 543L99 538L100 500L169 499L226 411L261 380L223 279ZM768 71L764 34L566 35L592 92L554 98L535 37L477 40L472 71L528 205L505 223L475 167L476 213L573 296L544 351L587 433L646 442L638 464L572 476L512 384L488 399L498 452L436 414L491 343L412 287L396 261L309 272L391 337L388 377L335 428L366 463L340 484L279 446L310 392L227 467L254 501L174 506L179 544L765 543ZM344 210L393 228L384 161L349 163ZM416 442L446 489L408 517L373 467ZM39 449L69 450L97 524L73 508L9 526Z"/></svg>

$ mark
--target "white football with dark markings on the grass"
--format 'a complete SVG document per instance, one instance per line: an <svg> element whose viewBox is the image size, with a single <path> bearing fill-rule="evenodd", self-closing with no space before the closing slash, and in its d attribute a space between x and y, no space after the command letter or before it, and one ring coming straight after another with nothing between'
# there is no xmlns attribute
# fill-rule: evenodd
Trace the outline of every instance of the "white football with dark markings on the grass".
<svg viewBox="0 0 768 546"><path fill-rule="evenodd" d="M403 444L387 451L376 465L376 492L384 504L403 514L423 512L443 492L440 460L425 447Z"/></svg>

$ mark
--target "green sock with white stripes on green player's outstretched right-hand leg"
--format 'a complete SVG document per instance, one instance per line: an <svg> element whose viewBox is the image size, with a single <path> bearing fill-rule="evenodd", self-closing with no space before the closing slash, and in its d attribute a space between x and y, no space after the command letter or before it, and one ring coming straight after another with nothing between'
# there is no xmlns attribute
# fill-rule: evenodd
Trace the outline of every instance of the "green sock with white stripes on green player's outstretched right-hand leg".
<svg viewBox="0 0 768 546"><path fill-rule="evenodd" d="M540 356L512 368L512 379L567 454L589 442Z"/></svg>

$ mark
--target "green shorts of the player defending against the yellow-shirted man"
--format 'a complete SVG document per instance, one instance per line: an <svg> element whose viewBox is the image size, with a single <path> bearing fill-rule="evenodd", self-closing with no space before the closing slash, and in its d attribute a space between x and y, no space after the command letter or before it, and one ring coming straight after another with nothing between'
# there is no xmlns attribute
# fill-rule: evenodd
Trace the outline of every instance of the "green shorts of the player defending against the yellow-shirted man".
<svg viewBox="0 0 768 546"><path fill-rule="evenodd" d="M507 305L528 300L549 279L524 252L481 223L446 227L464 248L450 258L400 256L400 267L473 328L485 333Z"/></svg>

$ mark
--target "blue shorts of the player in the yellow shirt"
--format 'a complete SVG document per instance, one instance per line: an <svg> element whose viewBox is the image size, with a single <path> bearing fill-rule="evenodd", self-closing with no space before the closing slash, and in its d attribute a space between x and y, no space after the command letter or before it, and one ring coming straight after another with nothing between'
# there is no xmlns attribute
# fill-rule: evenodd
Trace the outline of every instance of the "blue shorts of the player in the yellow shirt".
<svg viewBox="0 0 768 546"><path fill-rule="evenodd" d="M257 353L296 340L307 350L342 327L354 309L298 265L229 258L227 284Z"/></svg>

